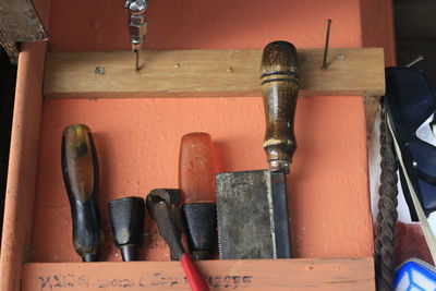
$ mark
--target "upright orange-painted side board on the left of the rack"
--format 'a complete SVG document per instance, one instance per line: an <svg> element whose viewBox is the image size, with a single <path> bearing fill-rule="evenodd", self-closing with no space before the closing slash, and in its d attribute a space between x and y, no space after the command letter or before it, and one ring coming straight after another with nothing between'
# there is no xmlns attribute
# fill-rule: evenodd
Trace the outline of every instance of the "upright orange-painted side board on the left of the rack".
<svg viewBox="0 0 436 291"><path fill-rule="evenodd" d="M45 52L46 43L25 43L19 56L1 238L1 291L20 290L23 262L31 252Z"/></svg>

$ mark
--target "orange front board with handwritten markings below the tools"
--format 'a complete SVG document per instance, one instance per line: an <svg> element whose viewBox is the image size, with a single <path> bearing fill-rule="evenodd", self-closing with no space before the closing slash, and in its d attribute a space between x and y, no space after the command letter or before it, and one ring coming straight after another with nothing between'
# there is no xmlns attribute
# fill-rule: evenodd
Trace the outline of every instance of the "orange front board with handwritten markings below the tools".
<svg viewBox="0 0 436 291"><path fill-rule="evenodd" d="M197 262L211 290L375 289L374 262L366 258ZM22 291L190 290L179 262L31 263Z"/></svg>

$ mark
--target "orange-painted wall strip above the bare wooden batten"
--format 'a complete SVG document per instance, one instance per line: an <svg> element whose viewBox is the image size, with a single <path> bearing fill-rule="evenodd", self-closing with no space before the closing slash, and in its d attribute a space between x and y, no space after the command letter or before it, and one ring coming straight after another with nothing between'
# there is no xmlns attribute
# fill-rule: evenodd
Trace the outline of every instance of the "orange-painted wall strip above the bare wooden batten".
<svg viewBox="0 0 436 291"><path fill-rule="evenodd" d="M365 0L367 1L367 0ZM325 43L332 20L331 47L361 47L359 0L149 0L149 49L263 48L283 39L296 47ZM126 50L123 0L56 0L50 46L58 51Z"/></svg>

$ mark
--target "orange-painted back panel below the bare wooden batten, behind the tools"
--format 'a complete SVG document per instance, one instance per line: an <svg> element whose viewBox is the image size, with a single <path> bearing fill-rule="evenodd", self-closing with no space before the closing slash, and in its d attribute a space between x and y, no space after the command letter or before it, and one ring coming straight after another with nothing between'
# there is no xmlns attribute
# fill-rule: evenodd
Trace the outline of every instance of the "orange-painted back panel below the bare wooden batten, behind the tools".
<svg viewBox="0 0 436 291"><path fill-rule="evenodd" d="M265 125L261 98L46 99L33 262L80 259L71 245L70 206L60 171L60 136L72 122L86 123L95 134L107 235L105 260L120 259L113 256L118 252L109 237L107 202L128 195L145 196L156 187L177 187L183 134L209 133L220 171L267 167L262 147ZM295 255L371 256L361 97L300 99L295 132L299 148L288 179ZM149 220L146 226L150 226ZM154 228L149 232L143 257L167 259L167 252L153 252L161 240Z"/></svg>

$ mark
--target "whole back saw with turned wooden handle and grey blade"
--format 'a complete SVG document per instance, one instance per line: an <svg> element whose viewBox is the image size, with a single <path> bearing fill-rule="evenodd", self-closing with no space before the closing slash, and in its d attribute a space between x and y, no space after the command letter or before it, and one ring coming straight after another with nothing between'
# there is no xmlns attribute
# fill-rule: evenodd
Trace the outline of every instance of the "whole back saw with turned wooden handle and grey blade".
<svg viewBox="0 0 436 291"><path fill-rule="evenodd" d="M293 119L299 92L296 49L267 45L262 58L262 92L268 170L216 175L220 258L291 256L286 174L296 148Z"/></svg>

